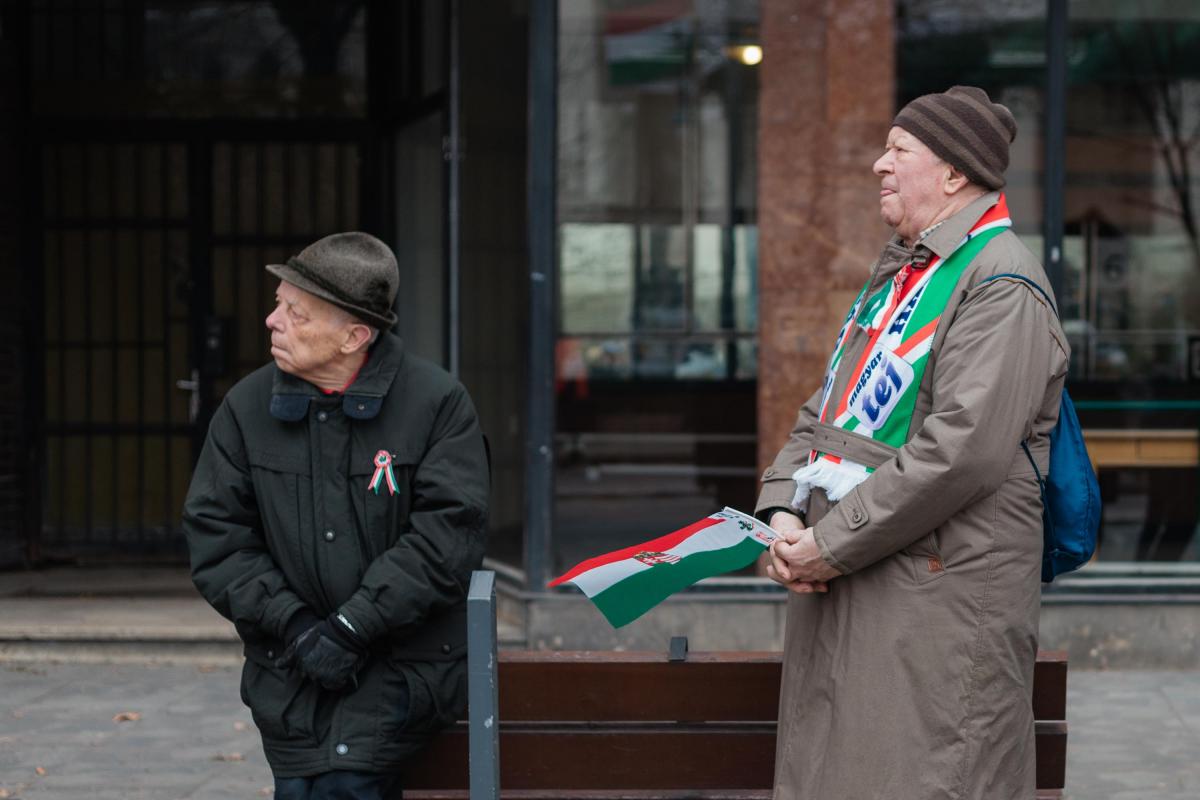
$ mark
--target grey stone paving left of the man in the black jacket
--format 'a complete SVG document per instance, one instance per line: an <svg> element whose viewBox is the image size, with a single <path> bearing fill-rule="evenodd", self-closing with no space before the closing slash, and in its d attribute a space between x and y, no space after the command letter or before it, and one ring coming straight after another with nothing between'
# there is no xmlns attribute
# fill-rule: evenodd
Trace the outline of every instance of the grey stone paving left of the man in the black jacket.
<svg viewBox="0 0 1200 800"><path fill-rule="evenodd" d="M47 800L269 796L239 674L203 664L0 664L0 789ZM114 721L122 714L138 718Z"/></svg>

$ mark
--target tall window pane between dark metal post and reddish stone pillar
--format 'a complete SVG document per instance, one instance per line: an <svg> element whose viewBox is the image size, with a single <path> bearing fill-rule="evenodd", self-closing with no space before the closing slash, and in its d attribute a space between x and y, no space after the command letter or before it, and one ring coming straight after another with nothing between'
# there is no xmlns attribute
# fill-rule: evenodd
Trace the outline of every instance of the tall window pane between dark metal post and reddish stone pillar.
<svg viewBox="0 0 1200 800"><path fill-rule="evenodd" d="M758 2L558 8L552 570L756 491Z"/></svg>

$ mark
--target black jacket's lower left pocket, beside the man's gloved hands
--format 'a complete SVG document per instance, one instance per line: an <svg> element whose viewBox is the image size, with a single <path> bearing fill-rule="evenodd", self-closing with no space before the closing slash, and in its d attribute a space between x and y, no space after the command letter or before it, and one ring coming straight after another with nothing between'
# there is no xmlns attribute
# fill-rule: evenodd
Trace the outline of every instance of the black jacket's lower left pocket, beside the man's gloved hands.
<svg viewBox="0 0 1200 800"><path fill-rule="evenodd" d="M316 684L298 670L276 668L271 658L251 646L241 670L241 702L250 706L264 739L316 742Z"/></svg>

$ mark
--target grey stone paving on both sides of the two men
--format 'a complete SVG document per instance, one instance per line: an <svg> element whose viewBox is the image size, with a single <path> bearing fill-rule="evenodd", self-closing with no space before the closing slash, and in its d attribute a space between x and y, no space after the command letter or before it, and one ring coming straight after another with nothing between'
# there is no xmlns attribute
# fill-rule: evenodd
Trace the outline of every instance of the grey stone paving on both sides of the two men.
<svg viewBox="0 0 1200 800"><path fill-rule="evenodd" d="M1200 798L1200 672L1075 670L1068 691L1069 800ZM0 798L252 800L270 787L235 667L0 663Z"/></svg>

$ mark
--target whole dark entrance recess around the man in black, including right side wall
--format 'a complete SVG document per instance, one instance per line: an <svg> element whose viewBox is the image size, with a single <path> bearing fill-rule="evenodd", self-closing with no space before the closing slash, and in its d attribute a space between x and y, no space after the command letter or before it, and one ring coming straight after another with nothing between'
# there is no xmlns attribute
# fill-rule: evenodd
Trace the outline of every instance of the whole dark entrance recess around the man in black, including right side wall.
<svg viewBox="0 0 1200 800"><path fill-rule="evenodd" d="M0 314L0 332L29 329L0 342L0 366L19 357L23 378L0 421L25 420L0 437L0 565L181 559L208 419L268 359L263 265L346 229L396 249L396 332L476 397L492 523L518 542L524 13L463 14L457 0L0 4L5 34L18 32L0 64L19 76L5 95L0 73L0 101L20 128L0 170L24 163L12 197L30 198L0 198L0 252L19 219L16 284L28 284L19 300L0 293L0 311L22 309L8 327Z"/></svg>

